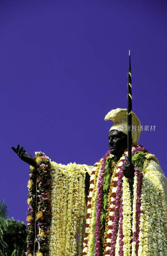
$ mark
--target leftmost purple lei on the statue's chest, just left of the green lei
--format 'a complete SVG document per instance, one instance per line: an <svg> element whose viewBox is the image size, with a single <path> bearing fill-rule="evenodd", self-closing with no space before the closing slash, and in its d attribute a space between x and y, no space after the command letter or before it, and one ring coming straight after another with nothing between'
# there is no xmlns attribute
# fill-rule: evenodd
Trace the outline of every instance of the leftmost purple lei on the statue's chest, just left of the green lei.
<svg viewBox="0 0 167 256"><path fill-rule="evenodd" d="M101 162L101 169L100 169L100 175L99 175L99 182L98 182L98 194L97 194L97 204L96 204L96 226L95 226L95 246L94 246L94 251L95 254L94 256L100 256L100 216L102 212L102 202L103 202L103 180L104 180L104 169L105 169L105 163L107 157L110 155L110 152L106 153L106 155L103 157L103 160Z"/></svg>

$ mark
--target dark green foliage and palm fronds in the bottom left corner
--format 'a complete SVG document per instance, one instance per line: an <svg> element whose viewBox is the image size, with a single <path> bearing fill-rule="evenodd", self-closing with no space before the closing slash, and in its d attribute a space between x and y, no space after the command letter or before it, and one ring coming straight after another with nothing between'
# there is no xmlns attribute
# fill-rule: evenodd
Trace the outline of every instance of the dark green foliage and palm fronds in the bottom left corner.
<svg viewBox="0 0 167 256"><path fill-rule="evenodd" d="M24 256L26 251L26 225L22 221L7 219L9 215L4 199L0 202L0 256Z"/></svg>

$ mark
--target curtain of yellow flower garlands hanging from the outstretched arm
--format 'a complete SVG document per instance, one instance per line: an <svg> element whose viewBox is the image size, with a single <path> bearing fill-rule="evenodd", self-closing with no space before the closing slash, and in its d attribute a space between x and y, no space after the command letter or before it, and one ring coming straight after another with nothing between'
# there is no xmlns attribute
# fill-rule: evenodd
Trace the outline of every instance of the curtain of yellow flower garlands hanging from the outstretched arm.
<svg viewBox="0 0 167 256"><path fill-rule="evenodd" d="M75 163L61 165L55 162L51 162L51 167L53 218L49 231L49 255L81 255L85 168Z"/></svg>

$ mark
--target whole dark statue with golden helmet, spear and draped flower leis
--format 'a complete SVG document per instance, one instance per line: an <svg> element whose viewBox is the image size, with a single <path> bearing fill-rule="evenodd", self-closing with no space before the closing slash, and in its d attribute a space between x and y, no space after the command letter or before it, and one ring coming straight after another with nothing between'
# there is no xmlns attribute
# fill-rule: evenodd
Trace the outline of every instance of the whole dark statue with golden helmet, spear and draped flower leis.
<svg viewBox="0 0 167 256"><path fill-rule="evenodd" d="M26 256L167 255L167 179L137 144L141 126L131 100L129 52L127 109L106 115L114 121L109 151L94 166L48 165L42 152L33 159L19 144L11 147L31 165ZM51 180L44 179L48 166Z"/></svg>

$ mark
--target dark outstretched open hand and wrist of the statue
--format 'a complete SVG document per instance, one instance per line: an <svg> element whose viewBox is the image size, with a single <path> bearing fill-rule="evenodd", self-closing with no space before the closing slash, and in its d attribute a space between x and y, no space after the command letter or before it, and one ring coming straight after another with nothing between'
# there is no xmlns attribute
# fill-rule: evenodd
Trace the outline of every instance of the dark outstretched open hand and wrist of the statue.
<svg viewBox="0 0 167 256"><path fill-rule="evenodd" d="M36 161L28 152L26 152L26 150L23 147L20 147L20 145L17 144L16 148L14 148L14 147L11 147L11 148L20 157L21 160L23 160L27 164L30 164L30 165L36 167Z"/></svg>

